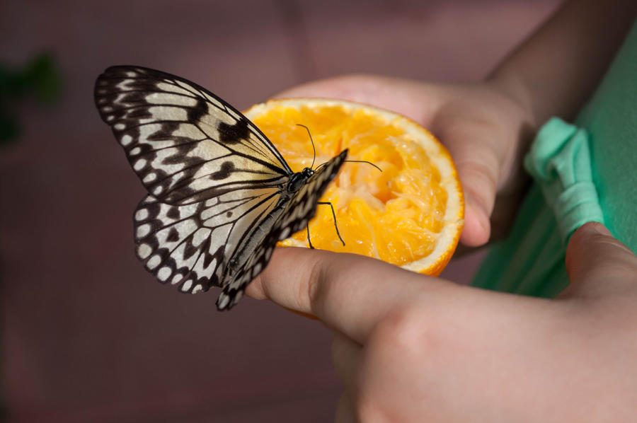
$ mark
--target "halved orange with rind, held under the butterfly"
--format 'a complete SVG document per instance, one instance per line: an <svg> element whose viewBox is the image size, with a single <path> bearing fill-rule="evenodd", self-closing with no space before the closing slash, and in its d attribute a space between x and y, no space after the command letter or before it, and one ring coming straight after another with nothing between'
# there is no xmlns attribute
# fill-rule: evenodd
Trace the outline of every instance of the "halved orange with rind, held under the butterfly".
<svg viewBox="0 0 637 423"><path fill-rule="evenodd" d="M328 161L344 149L344 163L309 222L315 248L379 258L437 275L452 257L464 225L460 181L447 149L416 122L394 112L343 100L270 100L246 113L294 172ZM306 231L279 245L309 246Z"/></svg>

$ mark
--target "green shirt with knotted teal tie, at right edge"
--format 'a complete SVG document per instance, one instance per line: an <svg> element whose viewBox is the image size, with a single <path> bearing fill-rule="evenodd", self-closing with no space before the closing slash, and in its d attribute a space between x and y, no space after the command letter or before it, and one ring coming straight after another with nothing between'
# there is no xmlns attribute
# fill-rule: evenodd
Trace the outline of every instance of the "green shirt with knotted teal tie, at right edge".
<svg viewBox="0 0 637 423"><path fill-rule="evenodd" d="M568 285L568 239L591 220L637 252L637 23L575 124L549 120L524 166L534 184L474 286L556 296Z"/></svg>

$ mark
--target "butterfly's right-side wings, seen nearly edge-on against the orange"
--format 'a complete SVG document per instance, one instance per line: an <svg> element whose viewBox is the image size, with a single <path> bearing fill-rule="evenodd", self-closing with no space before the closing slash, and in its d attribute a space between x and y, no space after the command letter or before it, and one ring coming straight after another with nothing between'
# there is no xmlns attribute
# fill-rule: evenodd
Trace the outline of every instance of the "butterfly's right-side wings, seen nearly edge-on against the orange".
<svg viewBox="0 0 637 423"><path fill-rule="evenodd" d="M246 286L265 269L278 241L284 240L308 224L316 214L316 203L325 192L329 183L335 178L340 166L343 165L348 151L342 151L316 170L305 185L285 204L268 236L241 264L234 274L229 274L229 280L223 282L222 294L217 299L219 310L230 309L239 302Z"/></svg>

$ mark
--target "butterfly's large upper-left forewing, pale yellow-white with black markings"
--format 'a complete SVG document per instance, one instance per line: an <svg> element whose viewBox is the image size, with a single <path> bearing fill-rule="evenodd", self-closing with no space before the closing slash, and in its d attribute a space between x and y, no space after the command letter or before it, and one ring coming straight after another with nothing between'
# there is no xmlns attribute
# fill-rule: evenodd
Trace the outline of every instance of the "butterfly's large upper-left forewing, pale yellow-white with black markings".
<svg viewBox="0 0 637 423"><path fill-rule="evenodd" d="M292 173L274 146L197 84L151 69L113 66L96 83L102 119L150 195L187 204L240 188L276 187Z"/></svg>

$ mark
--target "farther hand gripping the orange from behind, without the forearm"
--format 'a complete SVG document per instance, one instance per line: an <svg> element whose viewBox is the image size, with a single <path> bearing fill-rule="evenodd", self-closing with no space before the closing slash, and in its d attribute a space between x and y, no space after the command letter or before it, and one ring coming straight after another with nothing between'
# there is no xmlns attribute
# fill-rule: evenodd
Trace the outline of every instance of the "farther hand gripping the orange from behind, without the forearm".
<svg viewBox="0 0 637 423"><path fill-rule="evenodd" d="M524 179L520 155L532 134L529 112L488 83L430 84L352 75L289 89L278 97L342 98L402 113L430 129L452 154L466 194L461 242L489 239L496 195L498 216L512 218ZM510 200L510 201L507 201ZM503 222L498 230L506 230Z"/></svg>

